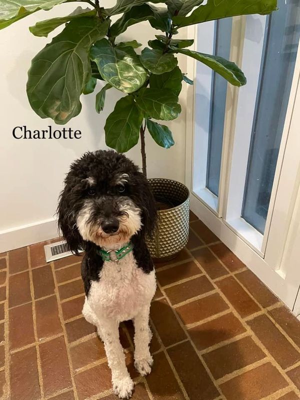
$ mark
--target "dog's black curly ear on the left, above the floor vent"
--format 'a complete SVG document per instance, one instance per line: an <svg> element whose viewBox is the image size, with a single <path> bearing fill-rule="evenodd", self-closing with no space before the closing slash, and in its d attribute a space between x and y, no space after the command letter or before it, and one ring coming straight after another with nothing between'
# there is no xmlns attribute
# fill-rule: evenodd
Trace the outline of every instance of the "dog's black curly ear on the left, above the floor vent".
<svg viewBox="0 0 300 400"><path fill-rule="evenodd" d="M66 184L58 200L58 228L66 240L69 250L78 255L78 250L80 248L83 249L84 241L76 225L75 212L71 207L70 196L71 190Z"/></svg>

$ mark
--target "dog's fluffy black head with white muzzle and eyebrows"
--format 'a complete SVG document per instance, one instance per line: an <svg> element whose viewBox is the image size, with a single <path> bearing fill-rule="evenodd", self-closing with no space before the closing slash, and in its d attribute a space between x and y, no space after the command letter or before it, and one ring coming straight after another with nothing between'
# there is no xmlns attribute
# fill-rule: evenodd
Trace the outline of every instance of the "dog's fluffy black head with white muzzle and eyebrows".
<svg viewBox="0 0 300 400"><path fill-rule="evenodd" d="M85 153L65 178L58 223L69 248L84 242L104 248L154 228L156 210L149 184L138 168L114 151Z"/></svg>

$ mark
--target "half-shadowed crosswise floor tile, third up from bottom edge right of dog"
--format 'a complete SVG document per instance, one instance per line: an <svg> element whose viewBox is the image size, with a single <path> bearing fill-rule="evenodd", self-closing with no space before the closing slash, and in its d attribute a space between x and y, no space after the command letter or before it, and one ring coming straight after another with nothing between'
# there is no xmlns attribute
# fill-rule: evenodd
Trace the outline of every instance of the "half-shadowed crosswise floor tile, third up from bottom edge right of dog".
<svg viewBox="0 0 300 400"><path fill-rule="evenodd" d="M197 349L203 350L243 333L245 330L238 318L229 312L188 329L188 333Z"/></svg>

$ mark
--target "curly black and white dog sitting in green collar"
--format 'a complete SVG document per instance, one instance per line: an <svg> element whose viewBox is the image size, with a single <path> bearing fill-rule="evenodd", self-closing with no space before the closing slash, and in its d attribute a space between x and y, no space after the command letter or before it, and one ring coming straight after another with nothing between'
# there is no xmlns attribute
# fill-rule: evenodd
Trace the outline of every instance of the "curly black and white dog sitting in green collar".
<svg viewBox="0 0 300 400"><path fill-rule="evenodd" d="M149 183L123 154L86 152L70 166L57 214L68 248L84 250L82 313L104 343L114 393L129 398L134 384L119 341L121 321L133 320L140 375L153 363L149 309L156 280L145 237L156 227L157 212Z"/></svg>

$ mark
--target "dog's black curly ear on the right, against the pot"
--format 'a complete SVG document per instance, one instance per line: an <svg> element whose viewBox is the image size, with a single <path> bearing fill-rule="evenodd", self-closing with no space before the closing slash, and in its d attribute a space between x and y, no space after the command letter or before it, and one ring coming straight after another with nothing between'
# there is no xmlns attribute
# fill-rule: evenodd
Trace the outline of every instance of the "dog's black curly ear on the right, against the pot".
<svg viewBox="0 0 300 400"><path fill-rule="evenodd" d="M141 210L141 233L143 236L152 236L157 225L157 210L154 196L147 178L141 172L134 176L136 190L134 202Z"/></svg>

